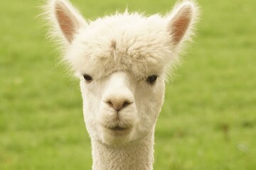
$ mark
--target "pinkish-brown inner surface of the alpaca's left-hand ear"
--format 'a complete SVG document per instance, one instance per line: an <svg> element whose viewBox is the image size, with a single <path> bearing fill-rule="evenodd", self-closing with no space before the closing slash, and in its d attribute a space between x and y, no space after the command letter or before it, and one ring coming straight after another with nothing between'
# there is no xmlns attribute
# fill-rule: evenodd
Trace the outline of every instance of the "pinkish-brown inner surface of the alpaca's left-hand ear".
<svg viewBox="0 0 256 170"><path fill-rule="evenodd" d="M67 38L68 42L72 42L76 31L72 14L68 11L68 9L63 9L63 6L56 6L55 10L60 29L63 31L63 34L65 35L65 38Z"/></svg>

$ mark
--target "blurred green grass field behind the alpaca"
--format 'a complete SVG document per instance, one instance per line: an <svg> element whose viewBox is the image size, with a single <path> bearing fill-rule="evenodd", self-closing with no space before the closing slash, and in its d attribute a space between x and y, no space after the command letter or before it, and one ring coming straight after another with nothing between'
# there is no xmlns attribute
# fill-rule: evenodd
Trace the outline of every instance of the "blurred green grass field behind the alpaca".
<svg viewBox="0 0 256 170"><path fill-rule="evenodd" d="M165 13L174 0L72 0L93 20ZM37 6L0 1L0 169L91 169L78 81L58 65ZM203 1L156 126L154 169L256 169L256 1Z"/></svg>

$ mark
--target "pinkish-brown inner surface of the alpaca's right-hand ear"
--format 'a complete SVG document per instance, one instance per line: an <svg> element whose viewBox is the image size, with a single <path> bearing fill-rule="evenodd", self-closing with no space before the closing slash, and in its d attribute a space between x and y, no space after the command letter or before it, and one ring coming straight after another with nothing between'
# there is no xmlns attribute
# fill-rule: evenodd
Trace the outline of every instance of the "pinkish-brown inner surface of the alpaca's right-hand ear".
<svg viewBox="0 0 256 170"><path fill-rule="evenodd" d="M173 36L174 45L181 41L188 30L191 22L192 11L191 8L183 8L178 12L174 21L171 21L171 35Z"/></svg>

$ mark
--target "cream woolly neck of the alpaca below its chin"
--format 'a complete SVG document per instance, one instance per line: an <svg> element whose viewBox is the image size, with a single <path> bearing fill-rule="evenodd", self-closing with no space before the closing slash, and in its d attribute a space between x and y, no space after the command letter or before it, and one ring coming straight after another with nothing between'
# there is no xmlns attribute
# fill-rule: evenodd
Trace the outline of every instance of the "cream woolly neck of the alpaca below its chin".
<svg viewBox="0 0 256 170"><path fill-rule="evenodd" d="M111 147L92 141L93 170L151 170L154 159L154 132L142 141L125 147Z"/></svg>

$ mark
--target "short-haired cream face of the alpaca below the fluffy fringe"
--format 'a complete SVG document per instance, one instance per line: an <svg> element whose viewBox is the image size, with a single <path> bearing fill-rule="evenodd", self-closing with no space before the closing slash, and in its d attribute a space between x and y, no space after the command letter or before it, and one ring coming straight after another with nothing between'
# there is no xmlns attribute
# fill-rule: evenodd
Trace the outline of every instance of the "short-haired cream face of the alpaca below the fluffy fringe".
<svg viewBox="0 0 256 170"><path fill-rule="evenodd" d="M160 77L150 84L127 72L114 72L100 80L82 79L80 86L85 124L93 140L125 144L153 130L164 99Z"/></svg>

